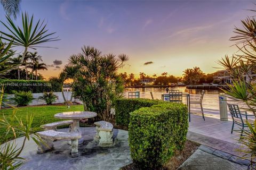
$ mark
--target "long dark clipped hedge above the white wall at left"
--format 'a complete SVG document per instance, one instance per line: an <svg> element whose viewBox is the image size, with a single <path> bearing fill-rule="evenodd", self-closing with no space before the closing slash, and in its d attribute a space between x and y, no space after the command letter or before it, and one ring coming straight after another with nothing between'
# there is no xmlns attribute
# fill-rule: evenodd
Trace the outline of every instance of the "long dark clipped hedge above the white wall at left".
<svg viewBox="0 0 256 170"><path fill-rule="evenodd" d="M13 90L31 91L33 93L61 91L59 83L51 83L43 80L2 80L0 81L0 85L5 86L4 92L6 94L12 94Z"/></svg>

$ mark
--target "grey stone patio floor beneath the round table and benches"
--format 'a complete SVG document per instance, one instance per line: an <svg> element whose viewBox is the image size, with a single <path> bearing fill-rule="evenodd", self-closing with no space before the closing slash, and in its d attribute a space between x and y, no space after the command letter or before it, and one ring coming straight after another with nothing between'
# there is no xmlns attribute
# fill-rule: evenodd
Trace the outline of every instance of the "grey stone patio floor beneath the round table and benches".
<svg viewBox="0 0 256 170"><path fill-rule="evenodd" d="M127 131L114 129L114 146L102 148L93 141L95 128L81 128L81 130L85 142L78 147L79 157L71 158L70 146L65 140L55 141L55 150L41 155L36 154L36 144L30 141L21 155L27 159L27 163L21 169L114 170L132 162ZM67 129L60 131L67 131Z"/></svg>

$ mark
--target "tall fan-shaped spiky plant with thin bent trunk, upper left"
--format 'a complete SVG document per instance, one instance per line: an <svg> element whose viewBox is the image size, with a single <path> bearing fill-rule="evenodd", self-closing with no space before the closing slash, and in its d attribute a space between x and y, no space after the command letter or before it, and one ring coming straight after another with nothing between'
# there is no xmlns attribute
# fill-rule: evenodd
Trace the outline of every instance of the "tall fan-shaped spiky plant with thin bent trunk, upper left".
<svg viewBox="0 0 256 170"><path fill-rule="evenodd" d="M46 29L46 24L44 24L44 21L40 22L40 20L38 20L34 25L33 15L30 19L27 13L22 13L22 28L20 28L18 25L15 25L10 16L6 15L6 19L7 23L2 21L0 22L7 30L9 30L10 33L0 31L2 34L1 38L8 42L12 42L12 44L15 46L24 47L25 49L23 51L22 57L20 58L20 63L11 69L5 70L4 74L10 72L11 70L18 69L18 67L22 65L28 48L36 49L37 47L43 47L40 46L42 43L58 40L57 37L51 37L55 32L48 33L49 30Z"/></svg>

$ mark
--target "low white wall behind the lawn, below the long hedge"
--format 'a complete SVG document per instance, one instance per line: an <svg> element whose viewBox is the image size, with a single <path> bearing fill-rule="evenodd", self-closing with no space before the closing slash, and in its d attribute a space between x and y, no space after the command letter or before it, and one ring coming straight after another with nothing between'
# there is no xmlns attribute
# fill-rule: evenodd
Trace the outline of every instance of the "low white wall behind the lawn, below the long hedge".
<svg viewBox="0 0 256 170"><path fill-rule="evenodd" d="M56 99L56 101L53 104L64 103L62 92L53 92L53 93L58 96L58 99ZM65 91L64 92L64 96L65 96L66 100L70 100L71 99L71 93L72 93L71 91ZM6 95L6 98L10 99L13 96L14 95ZM43 96L43 93L35 93L35 94L33 94L33 97L35 99L28 106L46 105L44 100L38 99L38 97L40 97L40 96ZM78 100L78 99L74 99L73 98L72 101L76 101L76 102L82 104L82 102L80 100ZM15 104L13 103L13 100L9 100L6 103L15 106Z"/></svg>

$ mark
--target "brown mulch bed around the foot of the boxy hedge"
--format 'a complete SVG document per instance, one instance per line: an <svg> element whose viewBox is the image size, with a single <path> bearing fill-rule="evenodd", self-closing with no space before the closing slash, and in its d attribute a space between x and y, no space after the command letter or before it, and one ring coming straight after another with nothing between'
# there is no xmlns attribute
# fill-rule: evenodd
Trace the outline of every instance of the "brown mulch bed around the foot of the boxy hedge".
<svg viewBox="0 0 256 170"><path fill-rule="evenodd" d="M175 155L169 160L169 162L162 168L162 170L175 170L177 169L185 160L187 160L199 147L197 143L186 141L185 147L181 151L175 152ZM140 170L135 164L129 164L121 168L122 170Z"/></svg>

